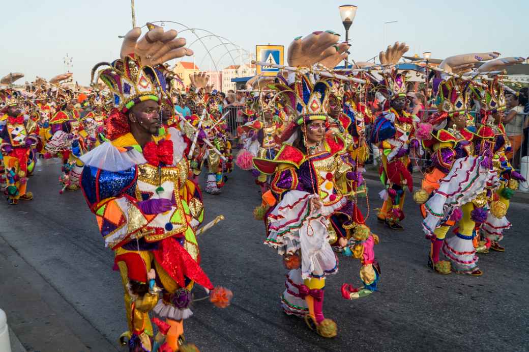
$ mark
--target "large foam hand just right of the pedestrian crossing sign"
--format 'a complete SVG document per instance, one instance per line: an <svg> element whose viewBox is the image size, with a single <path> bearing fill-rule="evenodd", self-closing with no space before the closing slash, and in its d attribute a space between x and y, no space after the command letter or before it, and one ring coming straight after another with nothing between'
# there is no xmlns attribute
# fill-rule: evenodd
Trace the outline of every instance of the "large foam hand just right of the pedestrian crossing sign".
<svg viewBox="0 0 529 352"><path fill-rule="evenodd" d="M339 34L331 31L313 32L302 39L298 37L290 43L287 51L289 66L311 67L321 63L327 67L334 67L347 54L347 43L338 43Z"/></svg>

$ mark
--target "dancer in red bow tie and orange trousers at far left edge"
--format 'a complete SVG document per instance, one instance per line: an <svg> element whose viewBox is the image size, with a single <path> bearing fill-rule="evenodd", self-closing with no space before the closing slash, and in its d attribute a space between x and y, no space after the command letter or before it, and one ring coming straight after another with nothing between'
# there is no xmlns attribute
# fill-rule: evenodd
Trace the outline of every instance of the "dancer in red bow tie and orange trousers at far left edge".
<svg viewBox="0 0 529 352"><path fill-rule="evenodd" d="M5 107L0 111L2 135L0 151L3 155L5 192L10 204L16 205L19 199L31 200L33 194L28 187L28 159L31 149L38 144L38 126L19 108L20 93L6 89L0 91Z"/></svg>

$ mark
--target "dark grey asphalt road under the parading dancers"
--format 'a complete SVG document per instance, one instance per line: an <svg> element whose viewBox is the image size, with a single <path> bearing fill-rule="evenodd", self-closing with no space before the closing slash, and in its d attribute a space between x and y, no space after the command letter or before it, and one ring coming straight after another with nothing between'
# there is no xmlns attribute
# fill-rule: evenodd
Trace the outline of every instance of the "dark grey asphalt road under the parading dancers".
<svg viewBox="0 0 529 352"><path fill-rule="evenodd" d="M59 164L41 163L29 180L33 201L0 204L0 307L30 352L120 350L116 339L126 323L113 253L104 248L81 191L59 195L59 171ZM263 225L252 216L260 198L251 175L236 170L221 195L205 195L206 221L219 214L226 219L199 238L202 267L234 298L224 310L196 302L186 339L202 351L529 350L529 206L511 205L514 227L502 242L507 250L480 255L483 276L442 276L426 267L428 242L411 197L405 231L391 232L372 210L381 205L381 186L368 185L368 225L380 236L380 291L343 300L340 287L360 283L360 264L340 258L340 271L327 279L324 304L326 317L338 324L334 339L318 337L282 313L286 270L262 244Z"/></svg>

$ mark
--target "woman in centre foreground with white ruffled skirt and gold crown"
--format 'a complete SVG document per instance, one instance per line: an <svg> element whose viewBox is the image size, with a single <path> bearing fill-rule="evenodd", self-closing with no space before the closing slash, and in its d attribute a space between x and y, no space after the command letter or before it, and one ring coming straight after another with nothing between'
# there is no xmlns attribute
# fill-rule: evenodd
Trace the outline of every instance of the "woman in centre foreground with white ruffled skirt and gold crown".
<svg viewBox="0 0 529 352"><path fill-rule="evenodd" d="M349 48L347 43L337 44L338 39L330 31L296 38L288 50L289 66L312 67L320 61L334 67ZM290 75L290 82L298 117L296 127L287 128L291 136L284 137L294 143L284 144L273 160L254 159L259 171L272 175L270 190L277 201L273 205L269 200L273 206L267 215L265 244L275 248L290 269L281 295L284 312L303 317L309 328L329 338L336 336L336 323L323 315L325 278L338 270L338 263L327 228L330 216L349 205L337 182L347 177L339 161L345 144L325 135L327 84L300 72Z"/></svg>

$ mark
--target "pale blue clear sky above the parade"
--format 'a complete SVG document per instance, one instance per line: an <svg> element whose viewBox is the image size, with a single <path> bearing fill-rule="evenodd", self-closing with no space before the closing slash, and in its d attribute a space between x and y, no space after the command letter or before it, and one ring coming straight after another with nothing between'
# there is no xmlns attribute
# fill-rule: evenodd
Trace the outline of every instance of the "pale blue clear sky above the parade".
<svg viewBox="0 0 529 352"><path fill-rule="evenodd" d="M345 0L348 1L348 0ZM224 37L203 39L214 58L196 41L191 31L181 33L195 51L194 58L205 71L239 64L238 47L254 53L257 44L284 45L317 30L342 34L335 0L135 0L136 25L175 21ZM431 51L432 58L468 52L498 51L502 57L529 56L529 1L395 1L358 0L358 11L350 29L351 56L358 61L378 55L395 41L406 42L406 55ZM130 0L17 0L3 1L0 42L0 76L25 74L19 82L46 79L65 73L63 58L72 57L71 72L79 84L87 85L90 70L101 61L119 56L121 39L132 28ZM8 15L6 15L8 14ZM398 21L384 25L384 22ZM166 29L185 28L166 23ZM144 30L145 31L145 30ZM211 35L202 30L195 33ZM179 35L180 36L180 35ZM215 47L216 46L216 47ZM226 49L227 48L227 49ZM231 50L227 52L227 50ZM233 58L233 59L232 59ZM244 54L243 61L249 60ZM17 83L19 83L17 82Z"/></svg>

